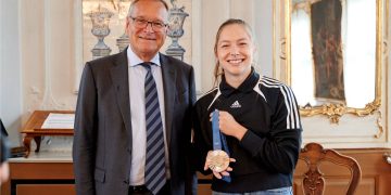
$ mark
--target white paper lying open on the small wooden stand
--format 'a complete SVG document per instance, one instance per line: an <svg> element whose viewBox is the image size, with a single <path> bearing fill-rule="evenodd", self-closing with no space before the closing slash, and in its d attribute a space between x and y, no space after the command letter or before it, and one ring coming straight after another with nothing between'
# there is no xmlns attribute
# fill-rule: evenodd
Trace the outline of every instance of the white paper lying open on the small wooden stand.
<svg viewBox="0 0 391 195"><path fill-rule="evenodd" d="M41 129L73 129L75 114L50 113Z"/></svg>

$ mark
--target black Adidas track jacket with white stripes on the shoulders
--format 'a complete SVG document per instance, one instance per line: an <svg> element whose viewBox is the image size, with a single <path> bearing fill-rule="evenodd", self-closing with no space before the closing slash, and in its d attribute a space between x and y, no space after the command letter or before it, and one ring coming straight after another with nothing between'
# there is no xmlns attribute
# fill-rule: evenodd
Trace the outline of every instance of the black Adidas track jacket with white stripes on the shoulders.
<svg viewBox="0 0 391 195"><path fill-rule="evenodd" d="M218 88L204 94L193 109L194 164L203 171L212 145L210 114L226 110L248 129L241 141L226 136L231 162L232 181L216 178L212 190L244 193L292 185L292 173L301 146L302 127L292 90L286 84L260 77L254 70L235 89L223 77Z"/></svg>

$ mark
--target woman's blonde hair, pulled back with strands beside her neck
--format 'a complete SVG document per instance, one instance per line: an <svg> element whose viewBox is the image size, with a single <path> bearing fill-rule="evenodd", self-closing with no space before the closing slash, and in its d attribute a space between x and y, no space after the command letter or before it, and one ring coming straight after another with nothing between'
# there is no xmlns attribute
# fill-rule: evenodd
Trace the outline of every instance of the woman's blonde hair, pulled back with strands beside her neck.
<svg viewBox="0 0 391 195"><path fill-rule="evenodd" d="M219 41L219 38L220 38L220 35L222 35L222 31L223 29L226 27L226 26L229 26L229 25L240 25L242 26L245 31L248 32L249 37L250 37L250 40L252 41L252 43L254 46L255 44L255 36L250 27L249 24L247 24L243 20L239 20L239 18L229 18L227 20L226 22L224 22L219 27L218 27L218 30L217 30L217 34L216 34L216 38L215 38L215 44L214 44L214 53L215 53L215 56L217 56L217 43ZM255 57L254 57L255 58ZM219 63L218 63L218 58L216 57L216 64L215 64L215 68L214 68L214 73L213 73L213 76L214 76L214 87L218 86L219 83L219 78L220 76L224 75L224 70L222 69Z"/></svg>

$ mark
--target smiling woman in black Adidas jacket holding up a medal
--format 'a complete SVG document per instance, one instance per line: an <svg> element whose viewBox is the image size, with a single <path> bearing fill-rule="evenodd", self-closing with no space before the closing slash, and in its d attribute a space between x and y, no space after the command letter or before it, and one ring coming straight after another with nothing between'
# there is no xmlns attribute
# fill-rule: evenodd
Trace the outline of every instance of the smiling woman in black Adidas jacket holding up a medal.
<svg viewBox="0 0 391 195"><path fill-rule="evenodd" d="M212 171L213 194L292 194L302 131L298 105L289 87L254 70L254 46L245 22L223 23L214 46L217 87L194 105L198 170L206 174L214 168L211 117L216 109L230 155L228 168Z"/></svg>

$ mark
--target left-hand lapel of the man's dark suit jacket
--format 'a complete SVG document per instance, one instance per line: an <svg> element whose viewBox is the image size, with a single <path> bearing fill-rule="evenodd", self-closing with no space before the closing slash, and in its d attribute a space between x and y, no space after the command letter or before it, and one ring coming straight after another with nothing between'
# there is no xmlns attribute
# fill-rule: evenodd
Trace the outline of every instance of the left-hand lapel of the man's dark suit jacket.
<svg viewBox="0 0 391 195"><path fill-rule="evenodd" d="M131 120L130 120L130 102L129 102L129 80L128 80L128 62L126 49L119 53L114 62L114 66L110 69L111 79L115 89L116 102L125 122L126 131L131 138Z"/></svg>

